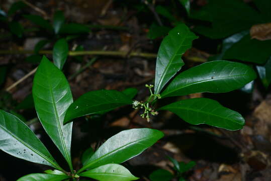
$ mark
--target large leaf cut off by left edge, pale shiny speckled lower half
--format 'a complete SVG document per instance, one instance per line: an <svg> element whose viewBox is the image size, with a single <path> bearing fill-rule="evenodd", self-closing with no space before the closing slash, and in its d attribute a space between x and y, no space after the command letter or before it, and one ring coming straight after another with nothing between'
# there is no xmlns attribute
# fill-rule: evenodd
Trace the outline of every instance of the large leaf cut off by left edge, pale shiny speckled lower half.
<svg viewBox="0 0 271 181"><path fill-rule="evenodd" d="M59 168L33 131L16 116L0 110L0 149L17 158Z"/></svg>

